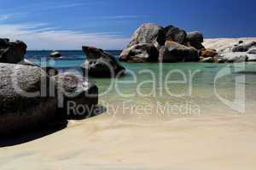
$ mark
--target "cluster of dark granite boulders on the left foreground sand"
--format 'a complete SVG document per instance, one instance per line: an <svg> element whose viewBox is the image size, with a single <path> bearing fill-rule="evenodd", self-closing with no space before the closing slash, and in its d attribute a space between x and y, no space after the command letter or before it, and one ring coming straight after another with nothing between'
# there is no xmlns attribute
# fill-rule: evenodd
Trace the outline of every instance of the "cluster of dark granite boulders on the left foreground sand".
<svg viewBox="0 0 256 170"><path fill-rule="evenodd" d="M25 54L24 42L0 39L1 136L93 113L89 111L98 103L96 84L75 73L41 68L24 59ZM78 113L69 103L86 110Z"/></svg>

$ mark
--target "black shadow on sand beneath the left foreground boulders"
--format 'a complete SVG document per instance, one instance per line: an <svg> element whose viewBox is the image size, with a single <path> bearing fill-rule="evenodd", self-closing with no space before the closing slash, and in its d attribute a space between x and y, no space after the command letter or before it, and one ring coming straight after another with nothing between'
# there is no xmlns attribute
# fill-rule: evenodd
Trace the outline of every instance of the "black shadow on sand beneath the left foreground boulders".
<svg viewBox="0 0 256 170"><path fill-rule="evenodd" d="M94 111L95 114L90 116L74 116L68 117L67 120L84 120L94 116L102 115L107 109L102 105L97 105ZM25 144L36 139L43 138L50 134L61 131L67 127L68 121L53 122L45 127L38 127L30 130L29 132L14 133L8 136L0 136L0 147L14 146L17 144Z"/></svg>

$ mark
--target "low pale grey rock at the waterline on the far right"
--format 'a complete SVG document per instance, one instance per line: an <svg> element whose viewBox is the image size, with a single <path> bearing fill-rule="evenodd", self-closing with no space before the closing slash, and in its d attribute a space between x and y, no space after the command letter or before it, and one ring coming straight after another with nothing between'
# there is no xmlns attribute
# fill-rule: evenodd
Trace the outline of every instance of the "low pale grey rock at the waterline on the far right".
<svg viewBox="0 0 256 170"><path fill-rule="evenodd" d="M226 54L220 54L222 56L222 59L224 59L225 62L245 62L248 59L248 56L246 53L226 53Z"/></svg>

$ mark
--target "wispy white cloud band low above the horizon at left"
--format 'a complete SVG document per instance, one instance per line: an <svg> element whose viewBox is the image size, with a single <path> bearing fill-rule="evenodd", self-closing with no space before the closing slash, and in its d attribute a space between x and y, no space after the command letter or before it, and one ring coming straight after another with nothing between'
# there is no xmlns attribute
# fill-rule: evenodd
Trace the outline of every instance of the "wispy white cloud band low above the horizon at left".
<svg viewBox="0 0 256 170"><path fill-rule="evenodd" d="M56 30L43 24L0 24L0 37L26 42L29 49L81 49L82 45L122 49L130 38L117 33Z"/></svg>

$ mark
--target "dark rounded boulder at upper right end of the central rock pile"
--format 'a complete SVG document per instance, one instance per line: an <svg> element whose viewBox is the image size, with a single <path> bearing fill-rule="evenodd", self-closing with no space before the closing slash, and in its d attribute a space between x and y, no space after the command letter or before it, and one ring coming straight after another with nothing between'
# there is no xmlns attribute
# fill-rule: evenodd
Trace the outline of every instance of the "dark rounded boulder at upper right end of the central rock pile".
<svg viewBox="0 0 256 170"><path fill-rule="evenodd" d="M196 48L196 49L202 49L205 48L201 43L204 42L204 37L201 32L199 31L193 31L189 32L187 35L187 42L190 46Z"/></svg>

